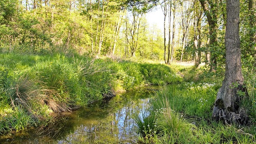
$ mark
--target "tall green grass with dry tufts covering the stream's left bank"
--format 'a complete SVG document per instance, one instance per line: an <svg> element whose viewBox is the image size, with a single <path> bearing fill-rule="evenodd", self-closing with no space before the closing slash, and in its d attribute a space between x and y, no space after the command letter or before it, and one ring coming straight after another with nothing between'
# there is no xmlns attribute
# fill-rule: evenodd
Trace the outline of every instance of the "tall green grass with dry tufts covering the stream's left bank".
<svg viewBox="0 0 256 144"><path fill-rule="evenodd" d="M161 64L64 54L0 54L0 121L13 121L1 125L0 133L47 125L52 112L69 112L120 91L179 80ZM16 109L29 120L16 121L12 112Z"/></svg>

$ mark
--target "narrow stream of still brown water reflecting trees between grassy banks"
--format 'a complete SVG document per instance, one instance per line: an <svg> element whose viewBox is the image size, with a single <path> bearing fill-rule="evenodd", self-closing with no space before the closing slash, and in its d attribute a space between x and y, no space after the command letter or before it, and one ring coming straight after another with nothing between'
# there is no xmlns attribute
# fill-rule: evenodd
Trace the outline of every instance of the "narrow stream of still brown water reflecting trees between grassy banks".
<svg viewBox="0 0 256 144"><path fill-rule="evenodd" d="M148 107L150 93L130 92L94 103L60 118L47 128L32 128L0 137L0 144L136 144L134 112Z"/></svg>

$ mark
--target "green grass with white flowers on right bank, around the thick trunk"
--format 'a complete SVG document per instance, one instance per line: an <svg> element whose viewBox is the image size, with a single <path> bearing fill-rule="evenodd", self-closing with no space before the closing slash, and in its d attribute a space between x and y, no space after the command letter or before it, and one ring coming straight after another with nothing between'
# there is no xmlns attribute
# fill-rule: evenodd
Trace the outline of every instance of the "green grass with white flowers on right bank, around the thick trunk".
<svg viewBox="0 0 256 144"><path fill-rule="evenodd" d="M175 66L182 74L181 83L167 85L151 99L147 117L154 116L154 131L139 137L142 144L253 144L256 143L255 76L248 74L246 83L249 96L242 96L242 107L247 109L251 123L247 126L224 125L211 119L212 108L221 77L192 72L193 68ZM196 73L196 74L195 74ZM199 73L199 74L198 74ZM195 79L195 76L197 77ZM254 77L254 78L253 78ZM218 78L218 80L215 80ZM190 82L196 81L196 82ZM208 81L208 83L206 83ZM209 82L210 81L210 82ZM147 117L144 119L147 121ZM144 130L144 119L137 122L138 131ZM141 122L142 121L142 122ZM144 127L143 127L144 126ZM149 138L149 136L151 136ZM150 139L150 140L148 140Z"/></svg>

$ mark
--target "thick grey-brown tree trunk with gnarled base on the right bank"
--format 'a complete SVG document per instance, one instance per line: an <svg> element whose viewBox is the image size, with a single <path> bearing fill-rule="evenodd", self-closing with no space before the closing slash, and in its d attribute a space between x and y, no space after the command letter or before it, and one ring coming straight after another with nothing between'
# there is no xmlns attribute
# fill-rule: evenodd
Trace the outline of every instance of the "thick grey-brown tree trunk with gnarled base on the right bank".
<svg viewBox="0 0 256 144"><path fill-rule="evenodd" d="M222 87L219 89L213 117L225 123L245 123L245 112L239 108L238 91L246 92L243 85L240 40L239 40L239 0L227 0L227 23L225 34L226 71Z"/></svg>

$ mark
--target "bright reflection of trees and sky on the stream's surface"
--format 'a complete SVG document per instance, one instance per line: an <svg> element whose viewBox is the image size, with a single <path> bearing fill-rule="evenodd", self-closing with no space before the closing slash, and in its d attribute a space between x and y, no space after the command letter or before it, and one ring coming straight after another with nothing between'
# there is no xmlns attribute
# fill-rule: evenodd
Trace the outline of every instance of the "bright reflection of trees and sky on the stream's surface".
<svg viewBox="0 0 256 144"><path fill-rule="evenodd" d="M105 117L102 115L93 117L98 121L88 122L88 119L83 119L84 124L75 128L76 130L65 139L59 140L59 143L136 143L137 134L134 129L132 113L140 112L148 103L148 99L138 99L136 95L130 99L126 96L125 98L122 99L122 101L124 100L122 103L118 103L115 98L112 99L108 108L102 109L102 111L110 113ZM90 118L93 119L91 116Z"/></svg>

